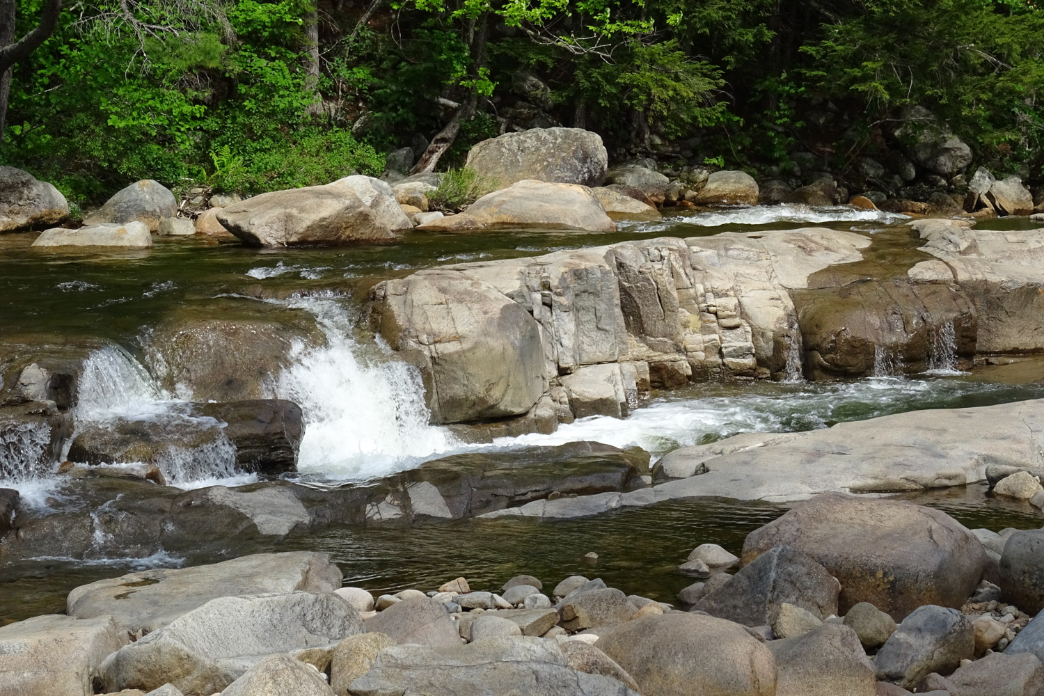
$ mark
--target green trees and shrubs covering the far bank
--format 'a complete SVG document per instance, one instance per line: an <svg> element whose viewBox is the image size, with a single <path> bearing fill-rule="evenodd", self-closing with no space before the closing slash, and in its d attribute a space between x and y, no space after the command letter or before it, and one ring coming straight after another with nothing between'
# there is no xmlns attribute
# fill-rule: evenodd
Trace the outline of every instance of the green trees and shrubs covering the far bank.
<svg viewBox="0 0 1044 696"><path fill-rule="evenodd" d="M0 2L0 51L54 5ZM614 159L844 172L916 105L1038 178L1042 35L1033 0L66 0L0 88L0 160L73 201L145 177L257 193L561 124Z"/></svg>

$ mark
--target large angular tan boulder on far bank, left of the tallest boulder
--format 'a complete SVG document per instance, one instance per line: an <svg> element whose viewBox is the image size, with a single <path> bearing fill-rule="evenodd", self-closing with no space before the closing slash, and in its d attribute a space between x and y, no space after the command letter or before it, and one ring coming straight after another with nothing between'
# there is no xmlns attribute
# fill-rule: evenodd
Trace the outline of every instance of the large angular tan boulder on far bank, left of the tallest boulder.
<svg viewBox="0 0 1044 696"><path fill-rule="evenodd" d="M392 202L398 210L395 196ZM405 218L402 210L399 215ZM221 209L216 219L252 246L343 245L398 236L352 186L339 184L262 193Z"/></svg>

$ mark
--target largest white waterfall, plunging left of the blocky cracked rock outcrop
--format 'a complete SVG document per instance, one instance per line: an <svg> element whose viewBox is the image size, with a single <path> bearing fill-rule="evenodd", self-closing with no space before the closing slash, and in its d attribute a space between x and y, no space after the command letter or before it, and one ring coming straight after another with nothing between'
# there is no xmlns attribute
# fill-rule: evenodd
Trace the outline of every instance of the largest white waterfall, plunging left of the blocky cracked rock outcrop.
<svg viewBox="0 0 1044 696"><path fill-rule="evenodd" d="M460 446L428 424L419 370L381 345L359 345L353 321L334 298L282 301L315 316L326 345L294 346L272 395L301 406L305 434L298 469L335 478L367 479Z"/></svg>

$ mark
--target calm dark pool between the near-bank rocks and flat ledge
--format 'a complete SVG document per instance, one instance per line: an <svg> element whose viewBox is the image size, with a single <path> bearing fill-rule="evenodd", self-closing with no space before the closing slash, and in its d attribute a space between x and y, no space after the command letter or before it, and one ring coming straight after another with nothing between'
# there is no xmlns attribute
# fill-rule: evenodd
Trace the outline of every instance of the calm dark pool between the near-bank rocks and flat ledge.
<svg viewBox="0 0 1044 696"><path fill-rule="evenodd" d="M989 498L984 486L908 494L902 499L931 505L969 528L1036 529L1044 524L1026 503ZM680 590L695 582L677 570L701 544L719 544L739 555L743 539L788 508L770 503L728 500L669 501L575 520L539 521L496 518L413 526L334 526L279 544L237 548L230 554L268 551L329 553L347 585L375 595L409 587L435 590L465 576L474 590L498 590L514 575L526 573L544 582L545 592L569 575L600 577L627 594L677 603ZM598 560L589 563L590 551ZM73 587L147 567L176 567L222 560L221 557L110 560L84 565L40 560L7 567L0 573L0 623L49 613L64 613Z"/></svg>

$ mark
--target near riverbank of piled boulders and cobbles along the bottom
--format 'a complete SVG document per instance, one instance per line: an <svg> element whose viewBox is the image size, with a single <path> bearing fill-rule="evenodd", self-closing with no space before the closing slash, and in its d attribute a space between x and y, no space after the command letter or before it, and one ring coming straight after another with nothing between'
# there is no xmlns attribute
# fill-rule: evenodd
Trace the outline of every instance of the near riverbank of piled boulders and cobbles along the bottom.
<svg viewBox="0 0 1044 696"><path fill-rule="evenodd" d="M1039 696L1042 535L998 536L910 503L825 494L752 532L739 557L705 539L679 569L703 579L670 603L584 576L475 587L467 572L375 598L341 586L337 567L313 552L142 571L77 587L67 615L0 628L0 688ZM593 569L606 560L589 555Z"/></svg>

